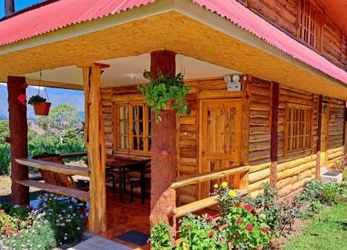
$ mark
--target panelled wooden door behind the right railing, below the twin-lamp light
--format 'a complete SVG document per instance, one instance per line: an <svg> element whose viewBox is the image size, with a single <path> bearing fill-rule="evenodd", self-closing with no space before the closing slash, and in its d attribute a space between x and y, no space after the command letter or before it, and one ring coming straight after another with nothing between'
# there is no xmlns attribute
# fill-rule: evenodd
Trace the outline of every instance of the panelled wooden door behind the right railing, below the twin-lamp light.
<svg viewBox="0 0 347 250"><path fill-rule="evenodd" d="M241 143L241 99L203 100L200 103L200 173L239 166ZM214 183L199 186L199 199L210 196Z"/></svg>

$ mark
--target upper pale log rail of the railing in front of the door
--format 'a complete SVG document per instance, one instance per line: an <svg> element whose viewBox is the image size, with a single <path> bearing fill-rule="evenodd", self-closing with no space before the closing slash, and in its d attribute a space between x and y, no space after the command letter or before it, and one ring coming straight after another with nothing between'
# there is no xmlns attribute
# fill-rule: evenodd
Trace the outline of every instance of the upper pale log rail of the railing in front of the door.
<svg viewBox="0 0 347 250"><path fill-rule="evenodd" d="M208 172L207 174L206 173L194 174L187 177L178 178L174 183L171 184L171 188L181 188L186 185L201 183L203 181L217 180L219 178L230 176L232 174L248 172L249 169L250 169L249 166L244 166L244 167L234 167L230 169L214 170L214 171Z"/></svg>

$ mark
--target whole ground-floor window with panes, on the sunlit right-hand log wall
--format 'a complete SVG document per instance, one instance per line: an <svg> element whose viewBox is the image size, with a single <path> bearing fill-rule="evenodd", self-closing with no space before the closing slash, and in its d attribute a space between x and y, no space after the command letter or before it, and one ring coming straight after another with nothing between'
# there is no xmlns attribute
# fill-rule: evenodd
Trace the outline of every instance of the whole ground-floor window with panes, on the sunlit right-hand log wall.
<svg viewBox="0 0 347 250"><path fill-rule="evenodd" d="M285 155L310 149L311 135L312 107L288 103L285 115Z"/></svg>

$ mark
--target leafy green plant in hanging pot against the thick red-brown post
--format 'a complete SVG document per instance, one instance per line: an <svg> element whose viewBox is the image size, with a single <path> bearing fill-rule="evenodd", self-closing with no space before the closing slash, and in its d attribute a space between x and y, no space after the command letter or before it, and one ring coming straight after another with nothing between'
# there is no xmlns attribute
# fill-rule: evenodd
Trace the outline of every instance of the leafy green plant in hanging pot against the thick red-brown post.
<svg viewBox="0 0 347 250"><path fill-rule="evenodd" d="M188 94L190 87L185 86L183 74L179 73L176 76L164 76L160 70L157 73L158 78L153 79L151 72L144 71L144 78L149 80L149 83L139 85L138 88L146 96L147 103L151 110L155 113L155 122L160 122L161 110L177 109L178 115L187 113L188 103L185 96Z"/></svg>

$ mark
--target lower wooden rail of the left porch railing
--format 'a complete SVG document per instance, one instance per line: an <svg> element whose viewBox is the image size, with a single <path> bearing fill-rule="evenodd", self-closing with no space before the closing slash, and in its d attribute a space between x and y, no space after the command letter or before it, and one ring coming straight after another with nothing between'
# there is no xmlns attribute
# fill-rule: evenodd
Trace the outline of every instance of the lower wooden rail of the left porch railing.
<svg viewBox="0 0 347 250"><path fill-rule="evenodd" d="M57 194L72 197L80 201L90 201L89 192L76 190L74 188L66 188L58 185L52 185L49 183L42 183L40 181L33 180L17 181L17 183L26 187L38 188L47 192L55 192Z"/></svg>

